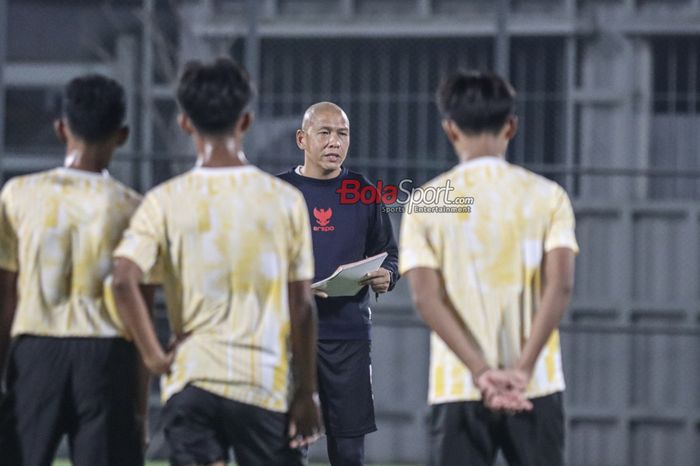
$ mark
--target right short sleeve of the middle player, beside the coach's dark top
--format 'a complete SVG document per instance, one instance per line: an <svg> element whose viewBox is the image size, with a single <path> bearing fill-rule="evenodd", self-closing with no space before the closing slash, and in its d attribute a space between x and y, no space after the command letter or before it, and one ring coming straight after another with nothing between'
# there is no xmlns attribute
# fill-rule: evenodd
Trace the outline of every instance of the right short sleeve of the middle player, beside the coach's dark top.
<svg viewBox="0 0 700 466"><path fill-rule="evenodd" d="M301 194L296 196L291 213L288 282L313 280L314 253L309 211Z"/></svg>

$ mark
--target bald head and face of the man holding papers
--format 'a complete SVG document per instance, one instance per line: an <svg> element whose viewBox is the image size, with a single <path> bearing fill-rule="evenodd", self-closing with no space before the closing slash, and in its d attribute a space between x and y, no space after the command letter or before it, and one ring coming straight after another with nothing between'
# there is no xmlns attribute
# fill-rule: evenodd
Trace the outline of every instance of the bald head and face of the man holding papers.
<svg viewBox="0 0 700 466"><path fill-rule="evenodd" d="M350 123L337 109L316 110L297 134L307 176L337 175L350 146Z"/></svg>

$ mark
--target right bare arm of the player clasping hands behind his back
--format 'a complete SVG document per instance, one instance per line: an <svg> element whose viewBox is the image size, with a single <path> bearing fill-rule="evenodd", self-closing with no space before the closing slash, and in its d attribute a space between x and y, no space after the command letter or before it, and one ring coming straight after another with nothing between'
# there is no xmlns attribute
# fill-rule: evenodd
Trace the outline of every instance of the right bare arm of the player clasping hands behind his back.
<svg viewBox="0 0 700 466"><path fill-rule="evenodd" d="M532 330L525 342L516 369L522 371L526 380L532 376L533 368L542 348L559 326L564 311L569 306L574 286L574 251L556 248L544 255L542 300L532 322Z"/></svg>

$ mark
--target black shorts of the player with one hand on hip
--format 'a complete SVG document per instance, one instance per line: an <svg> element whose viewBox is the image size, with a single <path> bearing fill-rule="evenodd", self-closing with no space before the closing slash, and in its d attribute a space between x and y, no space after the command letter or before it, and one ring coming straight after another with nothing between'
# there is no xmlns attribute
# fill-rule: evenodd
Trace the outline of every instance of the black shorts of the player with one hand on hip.
<svg viewBox="0 0 700 466"><path fill-rule="evenodd" d="M163 408L165 439L174 466L228 461L241 466L304 464L289 447L286 414L240 403L187 385Z"/></svg>

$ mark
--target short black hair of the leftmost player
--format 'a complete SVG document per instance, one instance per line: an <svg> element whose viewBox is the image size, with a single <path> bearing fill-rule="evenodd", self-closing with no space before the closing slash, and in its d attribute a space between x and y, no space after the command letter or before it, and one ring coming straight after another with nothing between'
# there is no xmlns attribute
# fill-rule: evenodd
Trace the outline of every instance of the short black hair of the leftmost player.
<svg viewBox="0 0 700 466"><path fill-rule="evenodd" d="M102 142L123 125L124 88L100 74L79 76L64 89L62 111L76 137L89 143Z"/></svg>

